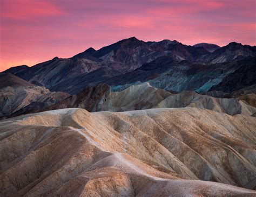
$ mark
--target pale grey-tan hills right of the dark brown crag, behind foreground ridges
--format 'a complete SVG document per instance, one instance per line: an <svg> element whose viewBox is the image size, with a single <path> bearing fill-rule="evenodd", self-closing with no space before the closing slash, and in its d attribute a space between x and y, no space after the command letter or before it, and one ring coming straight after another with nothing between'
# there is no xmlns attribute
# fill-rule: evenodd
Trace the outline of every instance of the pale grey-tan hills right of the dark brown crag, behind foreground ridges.
<svg viewBox="0 0 256 197"><path fill-rule="evenodd" d="M248 95L246 96L248 97ZM251 100L248 103L253 103L253 96L255 95L250 96ZM256 108L243 102L242 100L249 100L249 98L244 97L241 97L241 100L238 98L215 98L189 91L171 94L145 82L141 85L130 86L120 92L111 92L107 97L107 109L110 111L128 111L150 108L197 107L224 112L229 115L251 116L256 112Z"/></svg>

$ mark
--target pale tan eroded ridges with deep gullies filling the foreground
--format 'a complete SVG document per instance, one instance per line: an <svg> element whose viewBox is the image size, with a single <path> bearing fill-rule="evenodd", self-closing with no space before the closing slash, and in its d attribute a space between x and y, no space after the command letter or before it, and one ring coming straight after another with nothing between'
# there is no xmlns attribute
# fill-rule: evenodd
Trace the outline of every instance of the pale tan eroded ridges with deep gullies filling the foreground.
<svg viewBox="0 0 256 197"><path fill-rule="evenodd" d="M0 121L0 195L255 196L255 128L199 108L11 118Z"/></svg>

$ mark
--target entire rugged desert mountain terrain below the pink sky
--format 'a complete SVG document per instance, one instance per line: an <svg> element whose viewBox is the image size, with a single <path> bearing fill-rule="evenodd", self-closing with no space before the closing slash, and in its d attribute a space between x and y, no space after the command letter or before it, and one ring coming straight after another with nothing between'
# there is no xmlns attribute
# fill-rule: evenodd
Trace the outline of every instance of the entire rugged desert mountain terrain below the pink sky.
<svg viewBox="0 0 256 197"><path fill-rule="evenodd" d="M0 73L0 196L255 196L256 47L135 37Z"/></svg>

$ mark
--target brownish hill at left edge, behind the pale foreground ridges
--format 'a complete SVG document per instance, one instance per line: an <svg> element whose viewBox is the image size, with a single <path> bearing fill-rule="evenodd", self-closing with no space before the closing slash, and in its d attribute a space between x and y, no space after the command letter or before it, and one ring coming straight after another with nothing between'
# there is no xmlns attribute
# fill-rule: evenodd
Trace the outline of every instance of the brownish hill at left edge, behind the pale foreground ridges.
<svg viewBox="0 0 256 197"><path fill-rule="evenodd" d="M50 92L9 73L0 73L0 87L0 119L43 109L70 96Z"/></svg>

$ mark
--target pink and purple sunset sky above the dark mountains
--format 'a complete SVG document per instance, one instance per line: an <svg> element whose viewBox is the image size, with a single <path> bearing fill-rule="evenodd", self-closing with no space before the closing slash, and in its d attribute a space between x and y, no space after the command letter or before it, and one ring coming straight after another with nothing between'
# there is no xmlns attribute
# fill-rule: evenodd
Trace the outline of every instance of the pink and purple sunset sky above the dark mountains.
<svg viewBox="0 0 256 197"><path fill-rule="evenodd" d="M0 72L133 36L256 45L256 1L0 0Z"/></svg>

